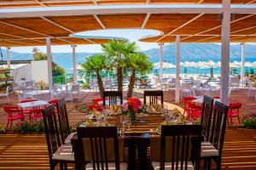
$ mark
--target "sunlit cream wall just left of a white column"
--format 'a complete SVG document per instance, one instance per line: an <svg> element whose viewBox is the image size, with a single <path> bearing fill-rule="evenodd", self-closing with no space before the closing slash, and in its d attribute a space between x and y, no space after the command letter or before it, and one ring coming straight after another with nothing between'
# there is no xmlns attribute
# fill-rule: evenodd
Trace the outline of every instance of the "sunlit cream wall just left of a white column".
<svg viewBox="0 0 256 170"><path fill-rule="evenodd" d="M47 60L32 61L32 80L35 82L43 81L48 85Z"/></svg>

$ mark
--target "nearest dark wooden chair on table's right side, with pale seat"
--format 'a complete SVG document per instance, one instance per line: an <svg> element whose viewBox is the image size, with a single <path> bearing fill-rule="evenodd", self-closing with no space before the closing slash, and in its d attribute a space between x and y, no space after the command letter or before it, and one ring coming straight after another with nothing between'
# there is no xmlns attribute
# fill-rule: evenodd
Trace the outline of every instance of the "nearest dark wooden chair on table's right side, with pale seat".
<svg viewBox="0 0 256 170"><path fill-rule="evenodd" d="M221 169L227 114L228 106L216 101L212 115L211 135L208 141L201 144L201 159L207 161L208 169L211 169L212 160L216 161L217 169Z"/></svg>

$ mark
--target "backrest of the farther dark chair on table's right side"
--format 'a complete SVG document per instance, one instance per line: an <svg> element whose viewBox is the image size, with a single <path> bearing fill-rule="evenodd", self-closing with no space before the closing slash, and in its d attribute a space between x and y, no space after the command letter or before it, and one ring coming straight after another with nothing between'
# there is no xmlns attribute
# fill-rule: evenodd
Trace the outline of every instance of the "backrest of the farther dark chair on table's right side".
<svg viewBox="0 0 256 170"><path fill-rule="evenodd" d="M212 106L213 99L209 96L204 96L203 105L201 109L201 125L202 125L202 135L206 140L209 139L210 128L212 122Z"/></svg>

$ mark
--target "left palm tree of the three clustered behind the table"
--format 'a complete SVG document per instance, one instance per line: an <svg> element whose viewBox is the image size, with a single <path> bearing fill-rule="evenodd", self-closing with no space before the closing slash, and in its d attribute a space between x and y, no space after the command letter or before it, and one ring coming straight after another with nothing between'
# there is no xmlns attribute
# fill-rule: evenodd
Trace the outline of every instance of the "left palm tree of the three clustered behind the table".
<svg viewBox="0 0 256 170"><path fill-rule="evenodd" d="M106 54L93 54L91 57L86 57L85 63L81 64L81 66L85 69L86 73L96 73L100 94L101 96L103 96L104 87L102 82L101 71L108 70L110 66Z"/></svg>

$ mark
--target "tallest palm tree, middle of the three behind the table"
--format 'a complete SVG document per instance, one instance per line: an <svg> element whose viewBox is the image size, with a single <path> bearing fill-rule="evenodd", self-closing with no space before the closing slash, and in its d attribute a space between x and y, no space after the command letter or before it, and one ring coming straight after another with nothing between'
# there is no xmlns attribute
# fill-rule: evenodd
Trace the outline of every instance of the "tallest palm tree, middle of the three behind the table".
<svg viewBox="0 0 256 170"><path fill-rule="evenodd" d="M124 60L129 54L137 53L136 42L110 40L107 44L102 44L102 50L112 59L117 71L118 90L123 91Z"/></svg>

